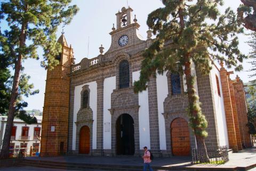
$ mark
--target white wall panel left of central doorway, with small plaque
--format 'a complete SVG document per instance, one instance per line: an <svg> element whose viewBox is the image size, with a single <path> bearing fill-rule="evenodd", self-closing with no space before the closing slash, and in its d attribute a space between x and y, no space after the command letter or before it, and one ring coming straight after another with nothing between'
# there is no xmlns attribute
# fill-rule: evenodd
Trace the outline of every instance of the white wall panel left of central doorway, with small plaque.
<svg viewBox="0 0 256 171"><path fill-rule="evenodd" d="M109 77L104 80L103 88L103 149L111 149L111 93L116 89L116 77ZM106 125L109 129L106 130Z"/></svg>

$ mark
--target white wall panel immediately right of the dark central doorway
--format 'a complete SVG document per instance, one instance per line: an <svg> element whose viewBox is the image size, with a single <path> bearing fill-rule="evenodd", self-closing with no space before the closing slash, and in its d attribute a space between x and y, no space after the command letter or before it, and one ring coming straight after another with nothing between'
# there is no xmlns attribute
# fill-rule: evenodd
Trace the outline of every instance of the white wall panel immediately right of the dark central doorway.
<svg viewBox="0 0 256 171"><path fill-rule="evenodd" d="M132 82L139 80L140 71L132 72ZM148 106L148 89L139 95L139 135L140 149L147 146L150 149L150 129L149 129L149 106Z"/></svg>

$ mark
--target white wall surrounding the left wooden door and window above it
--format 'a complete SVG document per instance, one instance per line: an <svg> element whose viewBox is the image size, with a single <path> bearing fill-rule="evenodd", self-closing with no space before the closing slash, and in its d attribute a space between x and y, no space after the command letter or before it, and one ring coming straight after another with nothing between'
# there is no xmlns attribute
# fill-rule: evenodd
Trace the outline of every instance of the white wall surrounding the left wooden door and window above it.
<svg viewBox="0 0 256 171"><path fill-rule="evenodd" d="M74 117L73 117L73 142L72 150L76 150L76 124L77 112L81 107L81 92L84 85L89 85L90 89L90 108L93 113L93 125L92 125L92 149L97 148L97 82L91 82L75 87L74 96Z"/></svg>

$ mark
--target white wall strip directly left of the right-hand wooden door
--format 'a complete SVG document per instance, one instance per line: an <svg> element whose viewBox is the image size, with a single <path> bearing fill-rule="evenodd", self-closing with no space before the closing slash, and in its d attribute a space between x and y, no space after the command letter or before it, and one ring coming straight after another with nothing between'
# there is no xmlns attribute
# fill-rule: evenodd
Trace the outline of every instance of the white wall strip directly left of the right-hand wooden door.
<svg viewBox="0 0 256 171"><path fill-rule="evenodd" d="M164 116L162 115L162 113L164 112L164 100L168 95L168 82L167 82L166 72L164 72L163 75L157 75L156 89L157 89L160 150L166 150L165 121L164 121Z"/></svg>

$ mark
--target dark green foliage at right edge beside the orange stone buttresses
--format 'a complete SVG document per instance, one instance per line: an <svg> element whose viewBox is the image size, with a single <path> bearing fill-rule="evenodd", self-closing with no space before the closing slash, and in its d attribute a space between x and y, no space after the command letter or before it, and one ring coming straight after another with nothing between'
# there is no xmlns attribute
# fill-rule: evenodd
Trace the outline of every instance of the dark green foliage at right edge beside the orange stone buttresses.
<svg viewBox="0 0 256 171"><path fill-rule="evenodd" d="M256 134L256 104L254 104L252 107L248 106L247 118L248 118L247 126L249 127L249 133L255 135Z"/></svg>

